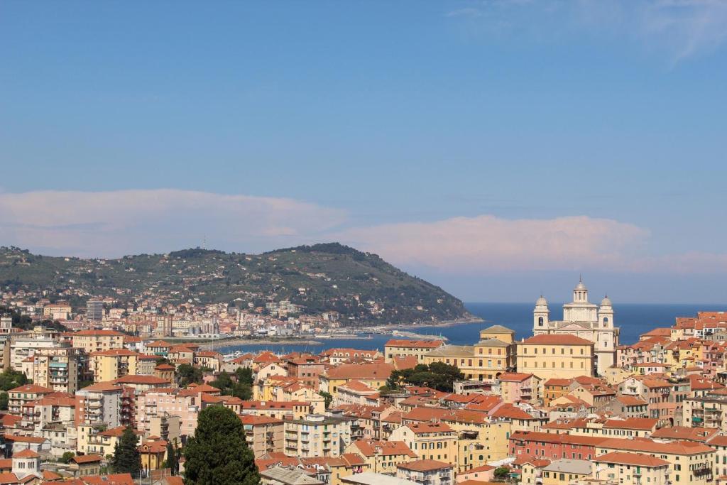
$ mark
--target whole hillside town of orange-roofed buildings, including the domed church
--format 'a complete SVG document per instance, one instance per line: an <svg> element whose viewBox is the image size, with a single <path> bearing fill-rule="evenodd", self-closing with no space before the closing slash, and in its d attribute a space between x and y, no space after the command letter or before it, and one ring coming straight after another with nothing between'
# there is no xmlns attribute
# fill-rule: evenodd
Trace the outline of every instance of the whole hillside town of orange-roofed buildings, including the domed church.
<svg viewBox="0 0 727 485"><path fill-rule="evenodd" d="M521 340L494 324L471 345L223 355L178 337L315 322L280 319L282 303L273 324L94 298L74 315L29 296L2 300L3 485L182 484L198 420L220 406L264 485L727 484L727 313L675 316L622 345L611 300L590 302L579 281L561 320L537 300ZM136 476L112 466L129 433Z"/></svg>

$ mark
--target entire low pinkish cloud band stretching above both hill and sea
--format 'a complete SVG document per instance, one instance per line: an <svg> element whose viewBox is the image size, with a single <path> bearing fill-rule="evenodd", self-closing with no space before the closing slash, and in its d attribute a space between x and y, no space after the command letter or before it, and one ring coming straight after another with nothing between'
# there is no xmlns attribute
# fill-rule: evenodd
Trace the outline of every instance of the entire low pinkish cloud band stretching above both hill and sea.
<svg viewBox="0 0 727 485"><path fill-rule="evenodd" d="M707 274L727 254L657 254L638 226L587 216L453 217L349 227L346 213L294 199L180 190L0 193L0 244L42 254L118 257L208 246L260 252L340 241L395 265L465 275L508 270Z"/></svg>

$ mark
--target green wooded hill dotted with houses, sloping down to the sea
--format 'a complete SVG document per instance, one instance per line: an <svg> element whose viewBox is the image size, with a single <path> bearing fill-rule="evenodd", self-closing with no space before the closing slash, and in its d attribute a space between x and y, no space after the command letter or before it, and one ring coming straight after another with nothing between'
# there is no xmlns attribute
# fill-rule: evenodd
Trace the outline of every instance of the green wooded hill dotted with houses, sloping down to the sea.
<svg viewBox="0 0 727 485"><path fill-rule="evenodd" d="M156 294L171 302L233 302L238 307L289 300L302 313L335 311L343 323L386 324L470 317L460 300L377 254L339 243L262 254L183 249L118 259L52 257L0 248L0 286L51 290L82 308L87 295L129 301Z"/></svg>

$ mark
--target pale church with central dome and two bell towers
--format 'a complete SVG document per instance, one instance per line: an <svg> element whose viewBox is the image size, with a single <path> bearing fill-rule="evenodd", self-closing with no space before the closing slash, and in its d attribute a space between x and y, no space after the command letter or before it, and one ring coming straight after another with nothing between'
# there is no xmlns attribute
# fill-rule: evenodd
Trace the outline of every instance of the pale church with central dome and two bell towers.
<svg viewBox="0 0 727 485"><path fill-rule="evenodd" d="M579 281L573 301L563 305L563 320L551 320L547 300L539 297L533 311L533 334L575 335L594 342L596 369L603 375L616 363L619 329L614 326L614 308L608 296L601 305L588 301L588 289Z"/></svg>

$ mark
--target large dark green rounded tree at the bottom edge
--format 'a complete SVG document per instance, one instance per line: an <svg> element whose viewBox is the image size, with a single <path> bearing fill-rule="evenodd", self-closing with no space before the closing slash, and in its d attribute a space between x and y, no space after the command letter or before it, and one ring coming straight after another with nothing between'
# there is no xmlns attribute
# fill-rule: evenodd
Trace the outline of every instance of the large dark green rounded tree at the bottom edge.
<svg viewBox="0 0 727 485"><path fill-rule="evenodd" d="M254 455L242 422L230 409L209 406L199 413L197 428L184 451L187 485L257 485Z"/></svg>

